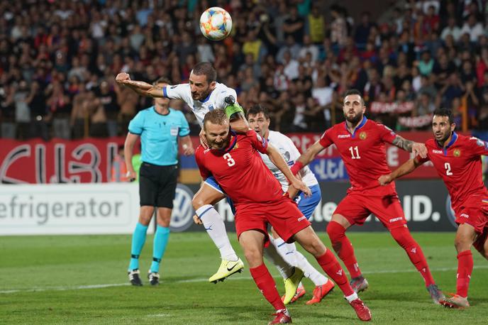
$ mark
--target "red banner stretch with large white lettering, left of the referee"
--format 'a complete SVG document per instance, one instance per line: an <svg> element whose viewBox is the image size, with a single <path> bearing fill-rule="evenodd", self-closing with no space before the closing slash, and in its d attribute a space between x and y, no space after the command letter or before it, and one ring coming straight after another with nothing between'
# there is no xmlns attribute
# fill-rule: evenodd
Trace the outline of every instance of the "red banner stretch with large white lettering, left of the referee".
<svg viewBox="0 0 488 325"><path fill-rule="evenodd" d="M107 182L124 138L0 139L0 183Z"/></svg>

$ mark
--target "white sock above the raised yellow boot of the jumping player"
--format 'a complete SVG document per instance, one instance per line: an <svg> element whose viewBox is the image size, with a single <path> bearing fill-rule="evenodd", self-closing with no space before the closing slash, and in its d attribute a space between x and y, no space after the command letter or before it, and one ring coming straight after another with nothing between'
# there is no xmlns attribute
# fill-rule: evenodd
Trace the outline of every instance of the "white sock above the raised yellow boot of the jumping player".
<svg viewBox="0 0 488 325"><path fill-rule="evenodd" d="M201 206L196 211L196 215L204 223L206 233L209 234L215 246L221 252L221 258L225 260L238 260L235 251L231 246L231 242L228 240L226 225L223 223L223 219L218 214L214 206L206 204Z"/></svg>

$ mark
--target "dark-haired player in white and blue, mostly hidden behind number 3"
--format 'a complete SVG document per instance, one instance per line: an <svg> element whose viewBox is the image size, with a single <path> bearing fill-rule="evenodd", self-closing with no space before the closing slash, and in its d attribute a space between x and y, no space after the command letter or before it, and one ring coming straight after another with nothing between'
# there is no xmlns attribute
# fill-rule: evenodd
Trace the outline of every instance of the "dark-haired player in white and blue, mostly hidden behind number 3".
<svg viewBox="0 0 488 325"><path fill-rule="evenodd" d="M279 150L279 153L281 153L288 165L293 165L295 160L300 157L299 150L296 149L292 139L288 138L282 133L270 130L270 116L265 107L260 105L251 107L248 110L248 122L249 126L253 128L254 131L259 133L263 138L267 139L268 143L272 144L275 148L277 148L277 150ZM281 170L279 170L278 167L271 162L267 155L261 154L261 158L265 165L271 170L273 175L275 175L279 183L282 184L283 192L287 192L289 185L287 177L285 177ZM309 167L302 169L300 174L301 180L306 184L307 187L309 187L312 195L310 197L305 197L304 194L301 193L296 197L296 202L300 211L304 214L304 216L306 216L306 219L310 219L316 206L318 205L318 202L321 200L321 190L318 186L318 181L314 173ZM316 304L320 302L321 299L328 294L328 292L331 292L334 287L333 282L328 280L328 278L321 272L318 272L318 270L316 270L309 263L309 261L306 260L305 256L296 250L294 243L285 243L273 230L272 238L270 238L270 240L272 244L276 246L278 252L282 255L284 260L286 260L289 264L304 270L304 275L309 277L309 279L312 280L316 285L312 299L306 302L306 304ZM279 270L280 265L276 266ZM303 297L304 294L304 286L300 283L291 302L295 302L300 297ZM284 299L284 297L282 297L282 299Z"/></svg>

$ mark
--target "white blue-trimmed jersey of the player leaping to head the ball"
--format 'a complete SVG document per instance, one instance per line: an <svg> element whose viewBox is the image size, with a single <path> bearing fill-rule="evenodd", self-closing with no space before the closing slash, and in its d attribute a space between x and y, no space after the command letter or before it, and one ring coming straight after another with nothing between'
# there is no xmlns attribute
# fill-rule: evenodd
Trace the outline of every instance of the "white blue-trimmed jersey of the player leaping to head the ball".
<svg viewBox="0 0 488 325"><path fill-rule="evenodd" d="M209 111L213 109L225 109L226 97L233 96L237 100L235 90L227 87L225 84L216 82L215 89L203 101L196 101L192 98L192 91L190 84L176 84L174 86L162 87L162 93L165 97L170 99L182 99L192 109L195 114L196 121L200 127L204 125L204 117Z"/></svg>

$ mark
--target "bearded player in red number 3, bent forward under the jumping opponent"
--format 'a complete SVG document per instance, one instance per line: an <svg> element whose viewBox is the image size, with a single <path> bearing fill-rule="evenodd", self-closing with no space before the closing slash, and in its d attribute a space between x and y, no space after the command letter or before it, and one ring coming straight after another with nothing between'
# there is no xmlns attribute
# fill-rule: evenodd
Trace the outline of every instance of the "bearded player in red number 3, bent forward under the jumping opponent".
<svg viewBox="0 0 488 325"><path fill-rule="evenodd" d="M371 312L357 297L348 283L345 272L331 250L320 241L309 221L262 161L260 153L270 156L290 181L290 188L308 194L310 190L289 170L279 151L268 145L253 130L236 134L230 130L228 117L221 109L209 111L204 118L204 132L209 149L199 147L195 158L201 177L213 176L235 204L235 229L240 246L249 263L253 279L268 302L277 310L270 324L291 323L287 309L276 289L275 280L262 260L263 248L269 242L270 224L284 241L298 241L314 255L321 268L343 291L345 298L363 321L371 319ZM294 192L291 191L291 192ZM294 193L289 193L294 195Z"/></svg>

